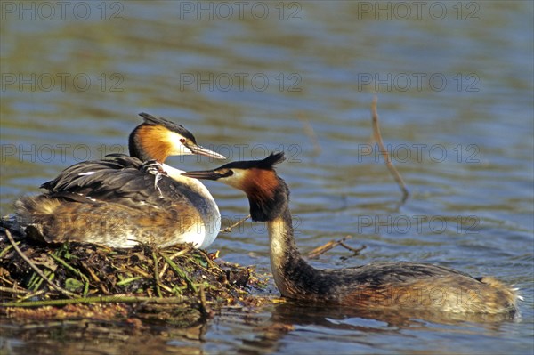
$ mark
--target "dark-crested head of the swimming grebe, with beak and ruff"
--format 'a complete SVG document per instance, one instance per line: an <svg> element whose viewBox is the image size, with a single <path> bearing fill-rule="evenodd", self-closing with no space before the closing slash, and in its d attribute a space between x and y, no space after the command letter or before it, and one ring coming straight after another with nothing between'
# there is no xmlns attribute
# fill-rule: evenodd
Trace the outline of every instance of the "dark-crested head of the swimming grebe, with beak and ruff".
<svg viewBox="0 0 534 355"><path fill-rule="evenodd" d="M284 153L271 153L263 160L237 161L214 170L182 173L196 179L223 182L247 194L254 221L266 222L282 214L289 202L286 182L274 170L283 162Z"/></svg>

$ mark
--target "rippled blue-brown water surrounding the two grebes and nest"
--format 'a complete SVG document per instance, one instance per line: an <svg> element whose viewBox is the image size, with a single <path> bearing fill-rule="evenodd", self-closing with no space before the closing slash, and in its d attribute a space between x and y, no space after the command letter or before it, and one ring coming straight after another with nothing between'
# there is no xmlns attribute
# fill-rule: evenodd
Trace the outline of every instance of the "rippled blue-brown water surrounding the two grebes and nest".
<svg viewBox="0 0 534 355"><path fill-rule="evenodd" d="M284 149L296 238L309 251L352 235L344 261L433 262L522 289L522 318L447 325L295 304L224 311L198 335L43 339L4 327L12 353L532 353L533 4L438 2L3 2L1 200L36 193L62 168L125 151L146 111L231 160ZM445 12L444 12L445 11ZM370 141L384 141L408 202ZM368 151L368 148L372 151ZM218 165L174 158L184 170ZM237 190L208 188L225 221ZM270 272L262 224L209 248ZM271 292L277 294L271 285ZM287 332L272 330L291 326ZM278 327L278 328L277 328ZM61 330L62 329L62 330ZM29 332L29 331L28 331Z"/></svg>

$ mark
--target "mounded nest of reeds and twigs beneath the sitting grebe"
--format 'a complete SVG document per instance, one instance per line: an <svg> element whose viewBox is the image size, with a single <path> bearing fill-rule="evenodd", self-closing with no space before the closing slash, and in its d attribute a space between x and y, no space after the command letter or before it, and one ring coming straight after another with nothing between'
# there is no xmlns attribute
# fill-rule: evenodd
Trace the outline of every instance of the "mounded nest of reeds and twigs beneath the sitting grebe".
<svg viewBox="0 0 534 355"><path fill-rule="evenodd" d="M51 246L0 229L0 315L11 318L134 314L190 327L224 306L263 303L250 289L264 286L254 268L191 245Z"/></svg>

